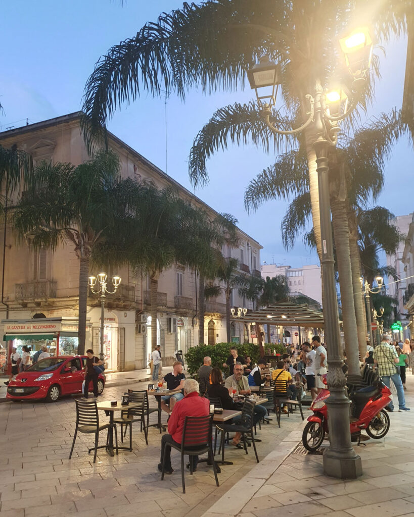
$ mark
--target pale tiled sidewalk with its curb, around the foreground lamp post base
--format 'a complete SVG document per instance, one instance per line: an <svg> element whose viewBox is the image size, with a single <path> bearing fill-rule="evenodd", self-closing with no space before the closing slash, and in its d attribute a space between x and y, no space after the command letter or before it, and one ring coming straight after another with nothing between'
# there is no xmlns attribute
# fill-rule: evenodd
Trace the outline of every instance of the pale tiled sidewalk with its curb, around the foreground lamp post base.
<svg viewBox="0 0 414 517"><path fill-rule="evenodd" d="M407 375L410 412L390 414L385 441L356 446L363 475L342 481L323 475L320 455L300 455L304 423L250 470L203 517L414 517L414 376ZM394 399L396 397L394 396ZM398 404L397 404L398 407Z"/></svg>

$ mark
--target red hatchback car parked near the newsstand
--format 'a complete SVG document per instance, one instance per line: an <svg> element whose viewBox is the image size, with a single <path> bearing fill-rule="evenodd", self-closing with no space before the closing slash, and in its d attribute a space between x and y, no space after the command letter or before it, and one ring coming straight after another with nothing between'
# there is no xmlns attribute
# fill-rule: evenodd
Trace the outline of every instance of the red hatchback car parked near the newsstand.
<svg viewBox="0 0 414 517"><path fill-rule="evenodd" d="M56 402L62 395L82 392L86 356L48 357L13 377L7 386L10 400L46 399ZM104 391L105 375L99 374L98 393ZM92 382L89 391L93 391Z"/></svg>

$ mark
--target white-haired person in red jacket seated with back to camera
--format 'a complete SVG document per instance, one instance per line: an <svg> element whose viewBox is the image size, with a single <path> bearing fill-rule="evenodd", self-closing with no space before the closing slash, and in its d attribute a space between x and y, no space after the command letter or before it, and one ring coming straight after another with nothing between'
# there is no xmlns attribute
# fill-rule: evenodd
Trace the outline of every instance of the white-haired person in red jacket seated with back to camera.
<svg viewBox="0 0 414 517"><path fill-rule="evenodd" d="M171 447L166 448L166 444L181 445L183 436L185 417L204 417L210 414L210 402L208 399L200 397L198 394L199 386L195 379L186 379L184 383L184 399L176 402L168 421L168 434L161 438L161 463L158 463L158 470L162 470L162 461L165 454L165 473L172 474L171 467ZM193 461L194 469L197 467L198 456L190 456Z"/></svg>

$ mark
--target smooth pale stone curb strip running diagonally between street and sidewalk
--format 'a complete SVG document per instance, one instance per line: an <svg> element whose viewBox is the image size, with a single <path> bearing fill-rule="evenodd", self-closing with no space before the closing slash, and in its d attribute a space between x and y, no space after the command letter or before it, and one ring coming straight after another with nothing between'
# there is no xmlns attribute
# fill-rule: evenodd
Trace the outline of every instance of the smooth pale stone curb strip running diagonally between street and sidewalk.
<svg viewBox="0 0 414 517"><path fill-rule="evenodd" d="M238 515L248 501L252 499L256 492L291 454L298 442L301 441L302 428L305 424L306 419L299 422L298 429L295 429L284 438L272 452L269 452L248 474L236 482L201 517L218 517L219 515L230 517L230 515ZM234 493L238 494L237 500L234 498ZM240 496L240 494L243 495Z"/></svg>

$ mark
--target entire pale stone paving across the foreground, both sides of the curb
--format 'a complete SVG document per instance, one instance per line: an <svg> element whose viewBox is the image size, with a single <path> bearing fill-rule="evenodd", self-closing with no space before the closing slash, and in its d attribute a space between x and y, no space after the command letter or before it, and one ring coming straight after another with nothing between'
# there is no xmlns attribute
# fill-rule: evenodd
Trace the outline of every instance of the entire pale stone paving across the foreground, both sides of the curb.
<svg viewBox="0 0 414 517"><path fill-rule="evenodd" d="M128 388L142 389L143 383ZM320 455L294 452L304 422L299 412L274 419L258 433L259 464L249 448L226 448L234 465L221 467L220 486L211 467L201 464L191 477L186 471L182 493L178 454L174 473L160 481L160 434L151 428L145 445L134 424L134 450L110 458L100 451L97 463L87 454L91 437L77 439L68 460L74 429L75 402L0 404L3 447L0 474L2 517L41 517L59 513L78 517L145 514L146 517L396 517L414 516L414 377L407 375L407 406L411 412L390 414L385 439L356 447L363 476L342 481L323 475ZM125 387L108 387L104 399L120 399ZM394 397L395 398L395 397ZM155 401L152 402L155 404ZM305 416L310 414L305 408ZM155 415L153 415L155 421ZM163 415L163 421L166 416ZM103 433L101 438L104 439Z"/></svg>

